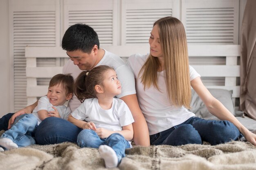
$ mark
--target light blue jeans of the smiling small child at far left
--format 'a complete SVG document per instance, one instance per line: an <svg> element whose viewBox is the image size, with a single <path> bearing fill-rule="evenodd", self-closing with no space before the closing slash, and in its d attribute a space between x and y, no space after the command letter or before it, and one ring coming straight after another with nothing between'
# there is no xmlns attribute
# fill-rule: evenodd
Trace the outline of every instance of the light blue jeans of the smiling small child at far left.
<svg viewBox="0 0 256 170"><path fill-rule="evenodd" d="M11 139L18 147L33 145L36 143L32 137L38 120L33 114L22 114L16 117L12 127L5 131L1 138Z"/></svg>

